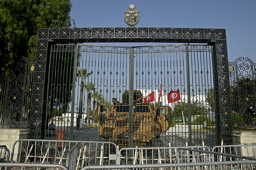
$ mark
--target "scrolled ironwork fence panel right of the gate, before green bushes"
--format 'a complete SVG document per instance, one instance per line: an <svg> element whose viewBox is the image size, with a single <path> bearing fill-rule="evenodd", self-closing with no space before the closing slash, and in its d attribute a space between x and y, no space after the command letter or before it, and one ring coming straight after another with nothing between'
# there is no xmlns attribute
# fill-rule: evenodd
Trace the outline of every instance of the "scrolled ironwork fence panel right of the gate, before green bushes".
<svg viewBox="0 0 256 170"><path fill-rule="evenodd" d="M232 125L239 130L256 126L255 115L249 109L256 104L255 72L256 63L247 57L229 62Z"/></svg>

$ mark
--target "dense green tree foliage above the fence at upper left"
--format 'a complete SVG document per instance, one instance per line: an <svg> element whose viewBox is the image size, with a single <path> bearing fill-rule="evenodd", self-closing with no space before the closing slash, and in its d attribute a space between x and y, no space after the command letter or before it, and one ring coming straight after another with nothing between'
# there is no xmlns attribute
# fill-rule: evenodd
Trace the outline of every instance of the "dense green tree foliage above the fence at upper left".
<svg viewBox="0 0 256 170"><path fill-rule="evenodd" d="M0 58L8 69L25 56L33 61L38 28L71 27L70 0L1 0Z"/></svg>

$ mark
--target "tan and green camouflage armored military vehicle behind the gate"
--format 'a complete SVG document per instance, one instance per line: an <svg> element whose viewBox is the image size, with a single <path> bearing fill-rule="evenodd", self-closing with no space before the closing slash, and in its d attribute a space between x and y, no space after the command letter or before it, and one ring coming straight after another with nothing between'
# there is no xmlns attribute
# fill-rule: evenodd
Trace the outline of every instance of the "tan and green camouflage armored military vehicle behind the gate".
<svg viewBox="0 0 256 170"><path fill-rule="evenodd" d="M131 134L133 134L133 146L159 146L160 135L169 128L171 110L169 106L152 108L154 105L143 103L143 98L139 90L134 90L134 101L129 105L129 90L125 90L121 103L116 98L112 98L111 107L99 106L97 123L100 136L120 147L128 147ZM129 107L133 108L131 132L129 131Z"/></svg>

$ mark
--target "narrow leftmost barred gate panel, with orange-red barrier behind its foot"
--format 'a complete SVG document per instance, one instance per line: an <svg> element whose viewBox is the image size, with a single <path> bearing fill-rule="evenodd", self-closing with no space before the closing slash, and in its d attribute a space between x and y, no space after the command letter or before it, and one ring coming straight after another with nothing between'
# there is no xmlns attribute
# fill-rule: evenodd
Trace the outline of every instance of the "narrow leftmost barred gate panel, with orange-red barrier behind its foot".
<svg viewBox="0 0 256 170"><path fill-rule="evenodd" d="M70 140L73 131L74 114L71 112L72 88L76 51L73 44L51 46L49 62L47 114L45 139ZM76 68L75 68L76 69ZM53 125L54 124L54 125ZM63 130L63 131L61 131Z"/></svg>

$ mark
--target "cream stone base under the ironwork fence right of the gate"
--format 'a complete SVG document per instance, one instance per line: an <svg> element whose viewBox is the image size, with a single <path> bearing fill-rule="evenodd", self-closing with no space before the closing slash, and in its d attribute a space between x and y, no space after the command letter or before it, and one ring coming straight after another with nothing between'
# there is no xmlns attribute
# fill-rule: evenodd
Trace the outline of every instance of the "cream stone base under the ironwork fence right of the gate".
<svg viewBox="0 0 256 170"><path fill-rule="evenodd" d="M248 145L256 144L255 131L233 131L233 145ZM243 153L243 154L242 154ZM248 149L246 146L238 150L238 155L246 155L253 157L253 150Z"/></svg>

